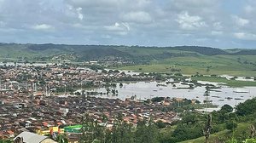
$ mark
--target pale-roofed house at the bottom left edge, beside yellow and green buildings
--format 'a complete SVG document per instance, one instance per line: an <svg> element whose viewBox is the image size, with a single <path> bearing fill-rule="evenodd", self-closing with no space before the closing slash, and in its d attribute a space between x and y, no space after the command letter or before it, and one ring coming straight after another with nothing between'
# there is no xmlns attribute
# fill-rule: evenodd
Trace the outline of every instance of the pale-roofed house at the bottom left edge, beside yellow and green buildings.
<svg viewBox="0 0 256 143"><path fill-rule="evenodd" d="M34 134L31 132L22 132L15 137L14 140L23 140L23 143L57 143L55 140L50 139L48 136Z"/></svg>

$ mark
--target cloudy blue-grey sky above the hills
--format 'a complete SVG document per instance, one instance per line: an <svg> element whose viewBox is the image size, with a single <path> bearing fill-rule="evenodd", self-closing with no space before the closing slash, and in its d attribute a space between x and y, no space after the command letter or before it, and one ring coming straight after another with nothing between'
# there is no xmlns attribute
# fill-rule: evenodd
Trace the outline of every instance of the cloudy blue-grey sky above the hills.
<svg viewBox="0 0 256 143"><path fill-rule="evenodd" d="M255 0L0 0L0 43L256 49Z"/></svg>

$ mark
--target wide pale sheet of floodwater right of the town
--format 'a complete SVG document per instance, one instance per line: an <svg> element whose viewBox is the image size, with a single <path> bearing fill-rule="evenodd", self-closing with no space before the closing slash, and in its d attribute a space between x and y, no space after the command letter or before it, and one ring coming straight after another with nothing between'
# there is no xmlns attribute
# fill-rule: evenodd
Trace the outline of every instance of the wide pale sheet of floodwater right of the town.
<svg viewBox="0 0 256 143"><path fill-rule="evenodd" d="M157 86L157 84L164 84L166 86ZM177 97L187 98L189 100L212 100L213 105L224 106L228 104L230 106L236 106L240 102L252 99L256 96L256 87L244 87L244 88L230 88L222 86L220 89L212 89L210 96L204 96L205 86L196 87L195 89L175 89L172 84L156 83L156 82L137 82L137 83L123 83L123 87L119 87L117 84L118 95L113 94L99 94L98 97L103 98L119 98L125 100L136 95L137 100L147 100L153 97ZM176 83L176 87L186 88L186 85ZM90 91L106 93L105 88L93 89Z"/></svg>

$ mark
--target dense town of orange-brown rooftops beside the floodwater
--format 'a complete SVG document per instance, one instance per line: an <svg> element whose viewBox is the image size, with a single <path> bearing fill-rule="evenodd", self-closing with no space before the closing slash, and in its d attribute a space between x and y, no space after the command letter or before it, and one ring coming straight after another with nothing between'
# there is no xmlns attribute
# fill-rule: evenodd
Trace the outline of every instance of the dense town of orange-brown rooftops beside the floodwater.
<svg viewBox="0 0 256 143"><path fill-rule="evenodd" d="M154 122L167 124L180 119L176 112L163 110L172 105L170 98L145 102L132 97L125 100L99 98L84 92L86 88L113 86L107 81L146 80L109 71L58 64L1 66L0 138L13 139L17 134L29 132L67 134L69 140L76 142L82 134L84 114L108 129L113 127L118 116L133 125L149 117ZM117 94L107 90L100 94Z"/></svg>

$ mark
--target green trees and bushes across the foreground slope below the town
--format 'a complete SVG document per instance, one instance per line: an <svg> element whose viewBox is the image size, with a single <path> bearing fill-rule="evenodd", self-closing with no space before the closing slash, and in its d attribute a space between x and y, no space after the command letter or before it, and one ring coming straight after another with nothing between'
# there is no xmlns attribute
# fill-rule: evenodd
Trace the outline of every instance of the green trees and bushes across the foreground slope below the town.
<svg viewBox="0 0 256 143"><path fill-rule="evenodd" d="M155 101L162 100L155 98ZM211 116L200 112L181 112L182 120L166 125L162 122L154 123L151 119L140 120L136 126L122 121L119 114L111 130L100 125L92 117L83 117L83 134L80 142L242 142L253 141L250 126L256 124L254 116L256 111L241 115L240 112L250 110L256 99L248 100L236 107L236 112L228 105L222 106L220 111L212 112ZM209 119L209 117L211 117ZM206 129L209 131L206 134ZM254 129L254 128L251 128ZM254 130L255 133L255 130Z"/></svg>

